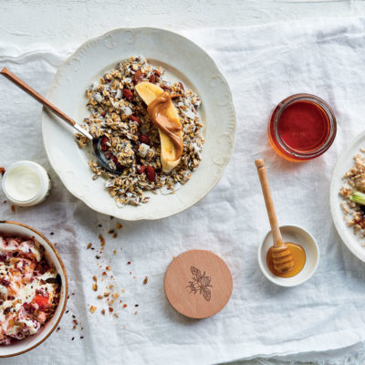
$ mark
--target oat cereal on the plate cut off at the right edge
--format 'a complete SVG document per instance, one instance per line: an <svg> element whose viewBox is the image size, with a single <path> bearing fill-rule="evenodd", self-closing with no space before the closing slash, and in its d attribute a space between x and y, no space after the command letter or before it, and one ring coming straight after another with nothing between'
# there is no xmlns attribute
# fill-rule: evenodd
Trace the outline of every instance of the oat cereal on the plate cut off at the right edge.
<svg viewBox="0 0 365 365"><path fill-rule="evenodd" d="M343 185L339 190L342 197L341 208L344 212L343 219L348 226L353 227L354 235L365 237L365 210L364 206L352 202L349 197L352 193L365 193L365 149L354 156L354 165L343 176ZM365 243L361 245L365 246Z"/></svg>

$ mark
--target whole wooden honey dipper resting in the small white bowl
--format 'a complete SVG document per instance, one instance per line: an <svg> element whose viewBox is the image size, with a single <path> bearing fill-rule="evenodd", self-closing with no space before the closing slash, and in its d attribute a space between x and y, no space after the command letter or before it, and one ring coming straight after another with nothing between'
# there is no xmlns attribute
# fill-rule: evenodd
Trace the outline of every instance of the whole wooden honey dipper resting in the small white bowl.
<svg viewBox="0 0 365 365"><path fill-rule="evenodd" d="M277 224L273 198L271 197L270 187L268 186L264 160L256 160L255 166L257 168L258 177L260 178L261 188L266 203L266 211L274 238L274 247L271 249L274 268L278 273L284 273L293 268L293 257L290 249L283 242L283 237L281 236L280 228Z"/></svg>

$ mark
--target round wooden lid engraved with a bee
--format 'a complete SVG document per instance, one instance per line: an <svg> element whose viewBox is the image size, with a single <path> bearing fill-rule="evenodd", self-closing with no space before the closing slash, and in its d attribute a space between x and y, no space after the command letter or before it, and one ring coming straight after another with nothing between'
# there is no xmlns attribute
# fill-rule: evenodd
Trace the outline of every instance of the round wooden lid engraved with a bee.
<svg viewBox="0 0 365 365"><path fill-rule="evenodd" d="M221 257L191 250L177 256L167 268L166 296L186 317L207 318L218 313L232 294L232 275Z"/></svg>

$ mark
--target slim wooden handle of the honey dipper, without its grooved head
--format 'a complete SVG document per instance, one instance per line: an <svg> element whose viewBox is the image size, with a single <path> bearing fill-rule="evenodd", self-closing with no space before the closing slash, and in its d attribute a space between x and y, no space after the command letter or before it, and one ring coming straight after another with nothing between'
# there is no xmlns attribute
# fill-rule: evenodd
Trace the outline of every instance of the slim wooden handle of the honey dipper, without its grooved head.
<svg viewBox="0 0 365 365"><path fill-rule="evenodd" d="M279 247L283 245L283 237L281 236L279 225L277 224L277 218L274 208L273 198L271 197L270 187L268 186L266 168L264 160L256 160L255 165L257 168L258 177L260 178L261 188L264 194L264 199L266 203L266 210L268 215L268 220L271 225L271 232L274 237L274 245Z"/></svg>

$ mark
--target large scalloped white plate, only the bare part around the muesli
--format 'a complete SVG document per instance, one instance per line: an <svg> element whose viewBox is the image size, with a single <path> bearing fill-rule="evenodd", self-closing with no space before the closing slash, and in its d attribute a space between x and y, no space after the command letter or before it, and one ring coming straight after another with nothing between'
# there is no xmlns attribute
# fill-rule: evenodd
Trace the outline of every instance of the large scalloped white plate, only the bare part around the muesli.
<svg viewBox="0 0 365 365"><path fill-rule="evenodd" d="M104 179L91 179L90 155L78 149L73 130L46 110L42 113L47 156L68 191L95 211L125 220L163 218L199 202L222 177L235 144L231 90L213 59L190 40L162 29L122 28L89 40L58 68L47 98L81 122L89 115L85 90L92 82L120 60L140 55L151 65L161 65L166 78L182 80L202 99L203 160L192 179L176 193L151 193L149 203L118 208L104 188Z"/></svg>

